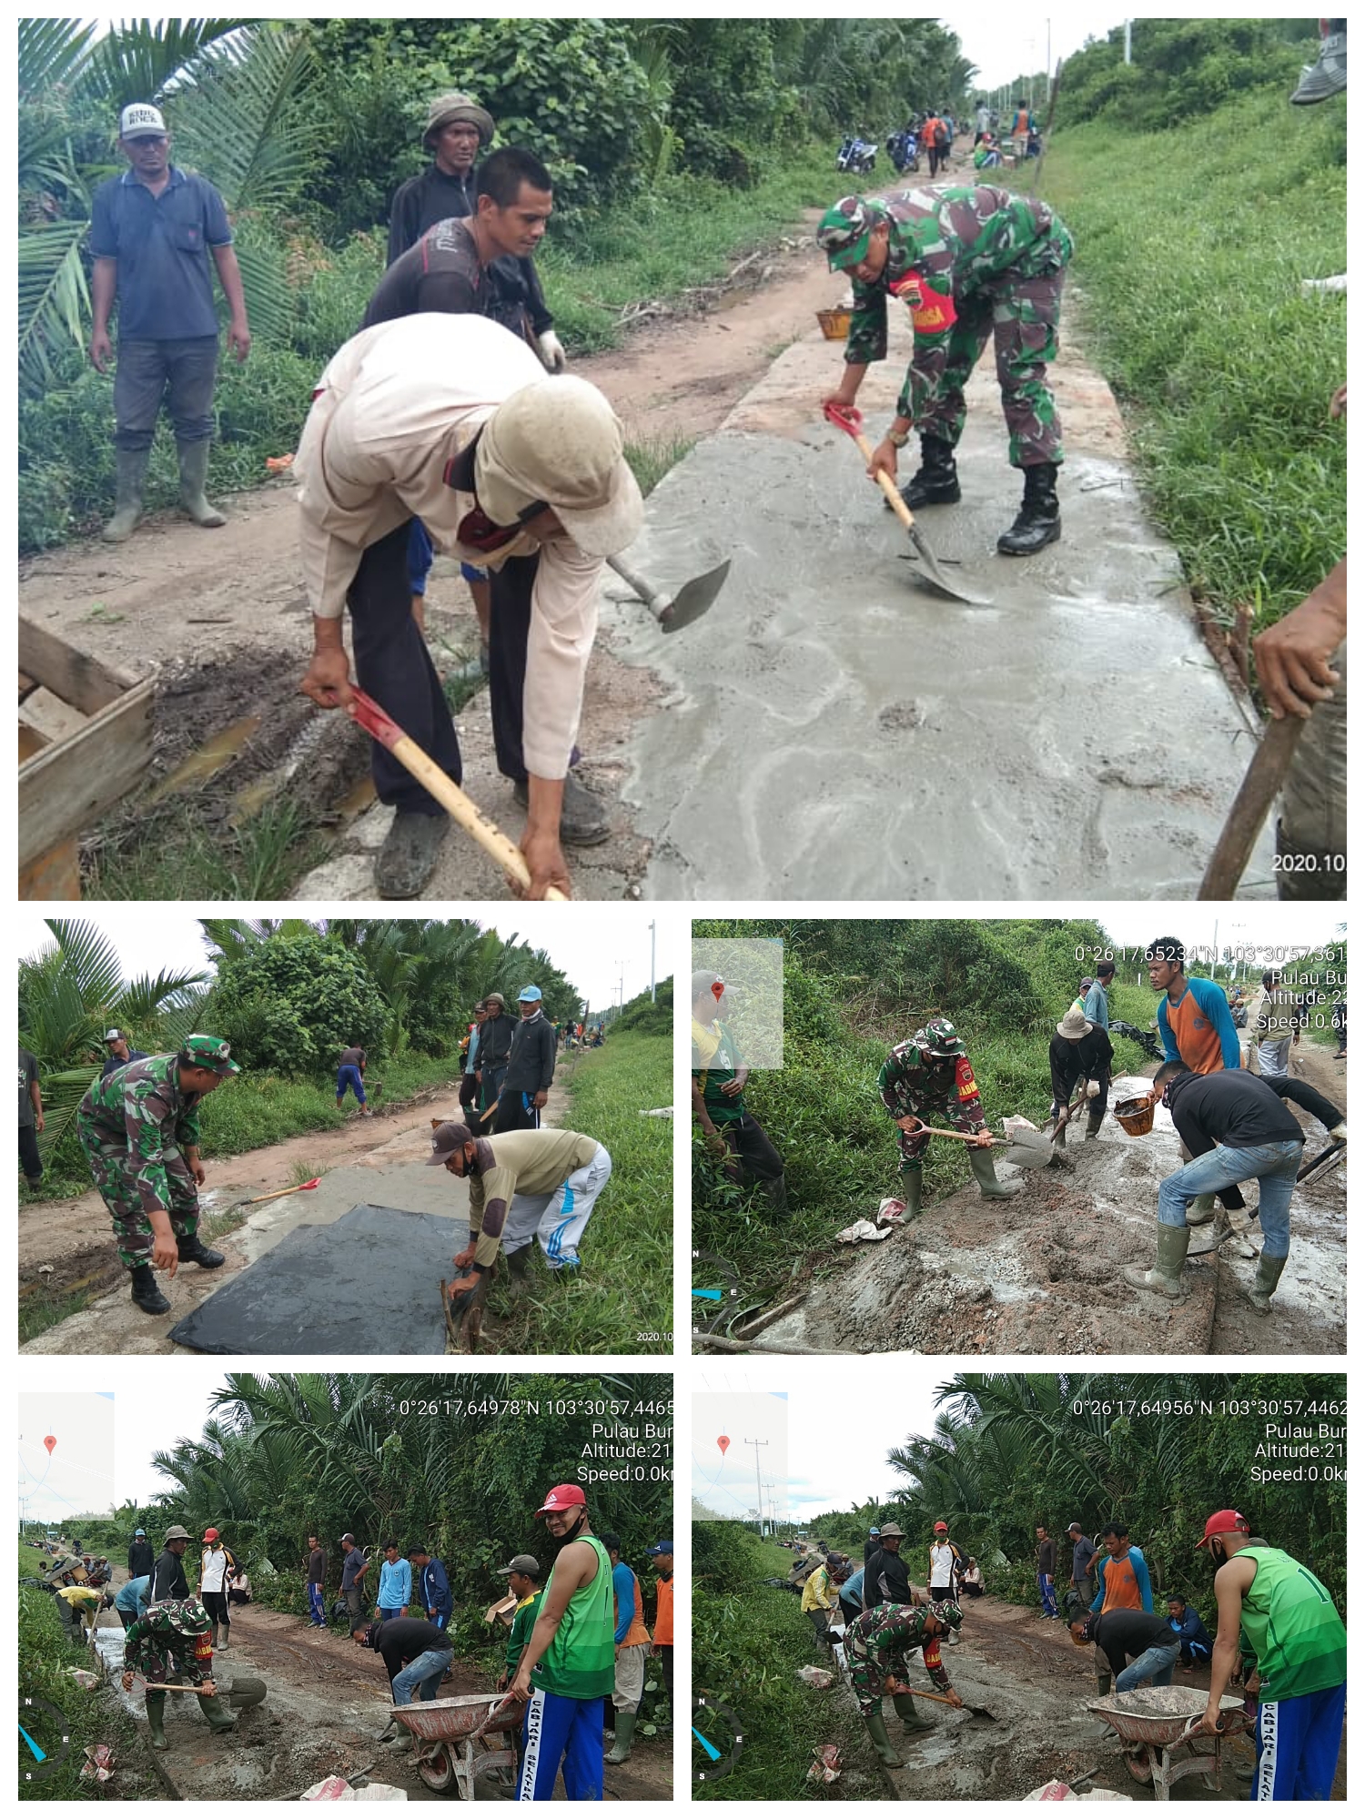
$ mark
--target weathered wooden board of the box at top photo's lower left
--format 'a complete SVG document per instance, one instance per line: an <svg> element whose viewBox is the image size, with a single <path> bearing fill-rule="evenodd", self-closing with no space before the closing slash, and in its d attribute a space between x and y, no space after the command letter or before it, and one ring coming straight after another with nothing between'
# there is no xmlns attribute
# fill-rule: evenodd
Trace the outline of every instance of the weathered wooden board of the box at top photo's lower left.
<svg viewBox="0 0 1365 1819"><path fill-rule="evenodd" d="M153 684L138 682L18 773L18 862L31 866L120 802L151 764Z"/></svg>

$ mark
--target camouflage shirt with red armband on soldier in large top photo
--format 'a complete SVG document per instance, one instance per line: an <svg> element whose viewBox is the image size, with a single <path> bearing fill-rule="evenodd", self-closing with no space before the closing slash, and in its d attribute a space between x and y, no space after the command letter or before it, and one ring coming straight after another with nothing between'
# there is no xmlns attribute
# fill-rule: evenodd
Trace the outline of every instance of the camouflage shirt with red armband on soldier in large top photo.
<svg viewBox="0 0 1365 1819"><path fill-rule="evenodd" d="M948 340L963 298L1003 278L1039 278L1072 256L1072 238L1046 202L994 184L935 184L883 196L890 216L886 266L870 284L854 280L850 364L886 358L886 298L908 304L915 353L897 411L919 422L948 366Z"/></svg>

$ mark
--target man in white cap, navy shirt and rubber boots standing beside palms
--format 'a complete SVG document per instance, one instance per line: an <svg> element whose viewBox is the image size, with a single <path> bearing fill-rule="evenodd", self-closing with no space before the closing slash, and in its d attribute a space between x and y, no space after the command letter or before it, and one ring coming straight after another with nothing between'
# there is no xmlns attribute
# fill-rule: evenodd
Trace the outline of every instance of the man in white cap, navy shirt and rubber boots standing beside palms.
<svg viewBox="0 0 1365 1819"><path fill-rule="evenodd" d="M147 102L124 107L118 149L129 169L95 191L89 224L95 255L89 357L98 373L113 358L109 311L118 298L116 497L104 528L107 544L126 542L142 515L162 397L175 426L182 508L204 529L226 522L204 495L218 373L209 255L231 311L228 346L238 360L251 351L242 273L222 196L207 178L171 164L171 135L160 109Z"/></svg>

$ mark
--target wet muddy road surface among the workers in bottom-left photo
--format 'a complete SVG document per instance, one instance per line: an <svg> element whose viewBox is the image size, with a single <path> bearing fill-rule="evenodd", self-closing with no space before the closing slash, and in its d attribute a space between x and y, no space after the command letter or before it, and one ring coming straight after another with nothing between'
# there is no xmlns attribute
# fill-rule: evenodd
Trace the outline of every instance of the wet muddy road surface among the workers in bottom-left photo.
<svg viewBox="0 0 1365 1819"><path fill-rule="evenodd" d="M116 1573L116 1579L126 1579ZM109 1612L104 1617L102 1652L115 1679L113 1697L142 1719L142 1692L116 1690L122 1632ZM328 1775L355 1777L369 1770L371 1784L402 1788L410 1801L435 1801L419 1775L413 1755L393 1755L377 1734L389 1713L384 1663L339 1632L311 1630L302 1617L249 1604L233 1612L231 1646L215 1655L215 1675L231 1684L235 1675L257 1675L269 1693L264 1704L244 1710L237 1732L215 1737L193 1697L166 1701L169 1750L158 1757L182 1799L297 1799L304 1788ZM490 1675L455 1663L440 1697L490 1692ZM666 1801L672 1784L672 1741L644 1739L630 1763L606 1770L606 1797L617 1801ZM506 1799L508 1788L479 1783L479 1799ZM555 1797L564 1797L562 1781Z"/></svg>

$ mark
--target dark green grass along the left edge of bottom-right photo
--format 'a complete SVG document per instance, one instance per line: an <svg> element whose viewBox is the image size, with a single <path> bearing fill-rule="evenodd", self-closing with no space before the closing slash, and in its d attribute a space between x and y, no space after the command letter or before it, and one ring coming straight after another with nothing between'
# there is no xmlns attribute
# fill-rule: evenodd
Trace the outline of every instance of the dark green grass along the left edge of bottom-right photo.
<svg viewBox="0 0 1365 1819"><path fill-rule="evenodd" d="M857 1710L837 1692L815 1692L797 1670L815 1663L801 1599L764 1579L786 1577L792 1555L741 1523L692 1524L692 1692L723 1699L744 1726L744 1752L693 1799L804 1801L812 1754L835 1743L844 1761L839 1794L881 1799L883 1784ZM721 1743L721 1737L713 1739Z"/></svg>

